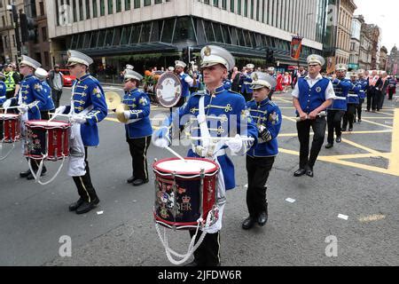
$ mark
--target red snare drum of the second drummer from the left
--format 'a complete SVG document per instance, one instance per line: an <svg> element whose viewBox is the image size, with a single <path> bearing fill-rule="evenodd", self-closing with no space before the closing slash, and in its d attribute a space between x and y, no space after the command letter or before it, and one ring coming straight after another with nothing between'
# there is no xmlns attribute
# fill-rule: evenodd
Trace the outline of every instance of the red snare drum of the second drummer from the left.
<svg viewBox="0 0 399 284"><path fill-rule="evenodd" d="M58 161L69 155L71 124L59 121L27 121L25 156L35 160Z"/></svg>

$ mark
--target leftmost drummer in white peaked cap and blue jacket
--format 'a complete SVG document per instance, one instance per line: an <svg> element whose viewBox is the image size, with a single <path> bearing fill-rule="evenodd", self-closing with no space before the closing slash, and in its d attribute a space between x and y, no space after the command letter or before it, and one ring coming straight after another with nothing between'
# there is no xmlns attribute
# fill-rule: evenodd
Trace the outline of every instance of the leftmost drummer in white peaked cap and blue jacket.
<svg viewBox="0 0 399 284"><path fill-rule="evenodd" d="M21 114L21 126L22 126L22 136L25 136L24 122L30 120L40 120L41 111L46 105L47 98L44 95L42 83L34 75L35 70L41 67L41 64L35 59L31 59L26 55L22 55L22 60L20 61L20 74L24 76L24 79L20 82L20 91L17 97L12 99L7 99L4 102L4 108L9 106L18 105L18 109ZM37 172L39 165L33 159L30 160L32 169ZM43 168L42 175L46 170ZM27 179L34 179L30 170L23 171L20 173L20 177L27 177Z"/></svg>

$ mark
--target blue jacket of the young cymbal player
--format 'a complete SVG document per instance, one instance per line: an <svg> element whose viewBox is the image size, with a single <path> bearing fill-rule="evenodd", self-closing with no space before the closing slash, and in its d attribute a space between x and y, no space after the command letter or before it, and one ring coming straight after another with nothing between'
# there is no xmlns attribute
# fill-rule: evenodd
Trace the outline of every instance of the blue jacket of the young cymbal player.
<svg viewBox="0 0 399 284"><path fill-rule="evenodd" d="M137 122L125 124L127 138L143 138L153 134L150 122L150 99L145 92L130 90L123 97L123 104L129 106L130 119L140 118Z"/></svg>

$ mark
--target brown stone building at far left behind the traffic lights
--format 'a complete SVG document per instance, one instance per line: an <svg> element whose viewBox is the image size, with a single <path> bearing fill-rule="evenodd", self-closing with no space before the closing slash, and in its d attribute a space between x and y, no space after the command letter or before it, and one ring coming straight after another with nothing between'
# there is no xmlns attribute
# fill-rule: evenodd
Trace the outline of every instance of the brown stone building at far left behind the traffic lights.
<svg viewBox="0 0 399 284"><path fill-rule="evenodd" d="M7 11L10 0L0 2L0 61L4 63L18 62L17 39L13 28L12 12ZM42 63L43 68L51 68L50 49L51 43L48 37L47 14L45 10L45 0L17 0L14 1L17 12L27 14L27 17L35 21L35 38L27 43L21 43L21 54L28 55ZM21 41L21 33L20 33Z"/></svg>

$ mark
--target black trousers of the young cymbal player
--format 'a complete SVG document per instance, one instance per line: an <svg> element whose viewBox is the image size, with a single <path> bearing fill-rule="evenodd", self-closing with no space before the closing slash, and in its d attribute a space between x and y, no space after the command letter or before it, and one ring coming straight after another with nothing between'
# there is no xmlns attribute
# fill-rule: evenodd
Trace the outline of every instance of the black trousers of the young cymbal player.
<svg viewBox="0 0 399 284"><path fill-rule="evenodd" d="M144 138L126 138L131 155L133 177L136 179L148 179L147 150L151 143L151 136Z"/></svg>

